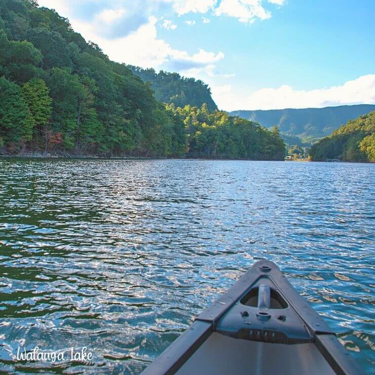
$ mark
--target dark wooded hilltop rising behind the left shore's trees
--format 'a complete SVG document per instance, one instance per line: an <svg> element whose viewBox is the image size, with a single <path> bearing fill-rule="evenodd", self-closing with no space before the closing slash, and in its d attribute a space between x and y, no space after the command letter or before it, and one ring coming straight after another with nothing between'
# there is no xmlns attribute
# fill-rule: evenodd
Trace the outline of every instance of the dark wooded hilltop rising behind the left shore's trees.
<svg viewBox="0 0 375 375"><path fill-rule="evenodd" d="M139 66L127 67L142 81L151 83L155 98L163 103L173 103L177 107L193 105L201 107L207 104L210 111L217 109L211 97L211 90L204 82L194 78L181 77L178 73L161 70L142 69Z"/></svg>

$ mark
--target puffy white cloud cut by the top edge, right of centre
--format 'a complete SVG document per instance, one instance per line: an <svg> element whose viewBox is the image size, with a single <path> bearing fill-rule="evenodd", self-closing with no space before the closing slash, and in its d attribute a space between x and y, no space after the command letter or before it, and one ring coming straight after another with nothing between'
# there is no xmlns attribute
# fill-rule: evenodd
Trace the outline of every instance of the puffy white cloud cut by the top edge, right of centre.
<svg viewBox="0 0 375 375"><path fill-rule="evenodd" d="M220 6L215 9L215 14L236 17L240 22L250 23L256 18L271 18L271 13L263 8L261 3L262 0L222 0Z"/></svg>

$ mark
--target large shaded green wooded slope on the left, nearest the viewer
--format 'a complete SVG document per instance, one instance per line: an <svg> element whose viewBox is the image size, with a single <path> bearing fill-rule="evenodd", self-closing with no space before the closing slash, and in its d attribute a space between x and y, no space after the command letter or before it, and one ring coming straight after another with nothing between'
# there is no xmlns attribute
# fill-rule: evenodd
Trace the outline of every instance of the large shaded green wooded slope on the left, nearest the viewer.
<svg viewBox="0 0 375 375"><path fill-rule="evenodd" d="M0 1L6 152L168 155L172 147L162 136L173 133L168 119L148 85L87 43L67 19L34 0Z"/></svg>

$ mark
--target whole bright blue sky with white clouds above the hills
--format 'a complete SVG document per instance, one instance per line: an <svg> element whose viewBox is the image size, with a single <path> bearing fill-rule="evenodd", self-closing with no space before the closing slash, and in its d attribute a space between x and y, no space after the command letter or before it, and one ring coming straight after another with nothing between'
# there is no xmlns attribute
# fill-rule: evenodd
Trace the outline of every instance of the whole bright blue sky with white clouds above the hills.
<svg viewBox="0 0 375 375"><path fill-rule="evenodd" d="M220 109L375 104L373 0L40 0L119 62L202 79Z"/></svg>

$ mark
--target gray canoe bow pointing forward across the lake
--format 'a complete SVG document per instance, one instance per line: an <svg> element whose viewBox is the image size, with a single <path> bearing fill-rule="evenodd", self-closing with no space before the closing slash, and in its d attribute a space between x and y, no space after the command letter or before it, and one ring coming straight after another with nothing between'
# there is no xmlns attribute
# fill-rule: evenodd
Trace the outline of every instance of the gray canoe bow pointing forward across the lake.
<svg viewBox="0 0 375 375"><path fill-rule="evenodd" d="M143 375L363 374L271 261L256 262Z"/></svg>

